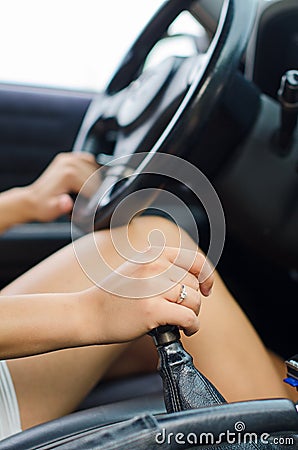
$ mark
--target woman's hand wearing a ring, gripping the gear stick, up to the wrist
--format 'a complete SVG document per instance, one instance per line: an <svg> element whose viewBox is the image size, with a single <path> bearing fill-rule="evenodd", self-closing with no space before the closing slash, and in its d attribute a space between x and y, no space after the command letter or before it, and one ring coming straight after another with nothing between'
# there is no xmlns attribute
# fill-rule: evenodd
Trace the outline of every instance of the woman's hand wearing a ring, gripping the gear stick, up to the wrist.
<svg viewBox="0 0 298 450"><path fill-rule="evenodd" d="M148 258L151 261L144 262ZM187 296L178 303L182 284ZM101 287L85 291L81 318L88 343L130 341L166 324L190 336L199 329L201 293L208 296L212 285L211 268L202 253L150 249L139 261L122 264Z"/></svg>

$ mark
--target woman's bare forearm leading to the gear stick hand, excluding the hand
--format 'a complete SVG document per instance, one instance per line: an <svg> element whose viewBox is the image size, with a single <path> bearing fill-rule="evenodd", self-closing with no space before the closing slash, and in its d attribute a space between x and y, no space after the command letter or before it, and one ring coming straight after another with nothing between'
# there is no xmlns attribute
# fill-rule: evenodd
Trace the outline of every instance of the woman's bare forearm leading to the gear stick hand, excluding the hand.
<svg viewBox="0 0 298 450"><path fill-rule="evenodd" d="M79 294L0 297L0 359L86 345Z"/></svg>

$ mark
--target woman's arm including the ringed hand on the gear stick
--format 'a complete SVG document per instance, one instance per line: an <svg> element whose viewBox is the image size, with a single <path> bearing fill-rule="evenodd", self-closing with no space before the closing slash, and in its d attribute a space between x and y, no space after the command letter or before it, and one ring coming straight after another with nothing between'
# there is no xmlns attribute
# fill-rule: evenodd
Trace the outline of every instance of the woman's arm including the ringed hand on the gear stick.
<svg viewBox="0 0 298 450"><path fill-rule="evenodd" d="M102 287L78 293L0 297L0 358L127 342L166 324L177 325L191 335L199 328L198 291L208 295L213 282L212 276L201 284L198 281L204 261L202 254L165 248L162 256L151 262L124 263L104 280ZM177 268L179 281L173 282ZM180 282L187 287L182 304L177 303ZM154 285L151 297L142 296L146 284ZM139 292L138 298L125 294L131 292L132 285ZM108 287L114 287L114 293Z"/></svg>

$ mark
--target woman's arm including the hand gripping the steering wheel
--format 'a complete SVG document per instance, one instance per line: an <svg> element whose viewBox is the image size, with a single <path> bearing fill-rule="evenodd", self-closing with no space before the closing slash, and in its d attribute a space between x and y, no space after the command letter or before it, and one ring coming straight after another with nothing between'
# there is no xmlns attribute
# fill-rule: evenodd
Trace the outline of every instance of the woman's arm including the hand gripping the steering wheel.
<svg viewBox="0 0 298 450"><path fill-rule="evenodd" d="M31 221L47 222L71 211L69 193L78 193L98 169L93 155L60 153L31 185L0 194L0 233Z"/></svg>

